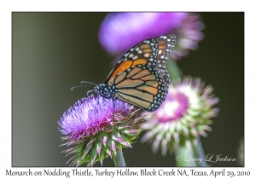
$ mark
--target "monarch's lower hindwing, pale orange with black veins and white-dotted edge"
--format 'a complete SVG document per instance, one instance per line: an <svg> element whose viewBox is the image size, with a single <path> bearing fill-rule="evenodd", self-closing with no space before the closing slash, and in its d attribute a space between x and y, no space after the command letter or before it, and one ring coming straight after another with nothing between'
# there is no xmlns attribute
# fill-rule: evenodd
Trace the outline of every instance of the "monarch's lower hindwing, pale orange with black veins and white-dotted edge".
<svg viewBox="0 0 256 179"><path fill-rule="evenodd" d="M154 111L166 98L165 83L159 72L148 65L131 66L109 80L115 96L147 111Z"/></svg>

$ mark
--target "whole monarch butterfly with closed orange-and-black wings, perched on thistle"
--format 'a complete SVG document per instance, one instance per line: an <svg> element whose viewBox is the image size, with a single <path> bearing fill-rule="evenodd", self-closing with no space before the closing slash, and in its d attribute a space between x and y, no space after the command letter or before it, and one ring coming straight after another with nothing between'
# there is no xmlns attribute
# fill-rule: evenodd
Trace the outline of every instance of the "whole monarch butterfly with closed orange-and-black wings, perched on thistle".
<svg viewBox="0 0 256 179"><path fill-rule="evenodd" d="M154 112L166 99L170 84L166 61L175 43L173 34L137 43L94 90L104 98L119 99Z"/></svg>

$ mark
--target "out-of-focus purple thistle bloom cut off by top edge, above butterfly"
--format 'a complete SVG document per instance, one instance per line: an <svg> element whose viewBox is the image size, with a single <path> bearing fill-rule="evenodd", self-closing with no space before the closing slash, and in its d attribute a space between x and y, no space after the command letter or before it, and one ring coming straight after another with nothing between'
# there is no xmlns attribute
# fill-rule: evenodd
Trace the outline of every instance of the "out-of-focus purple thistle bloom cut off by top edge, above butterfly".
<svg viewBox="0 0 256 179"><path fill-rule="evenodd" d="M102 22L99 40L103 49L120 56L147 38L173 33L177 44L171 57L177 60L188 49L196 49L203 28L199 15L193 13L111 13Z"/></svg>

